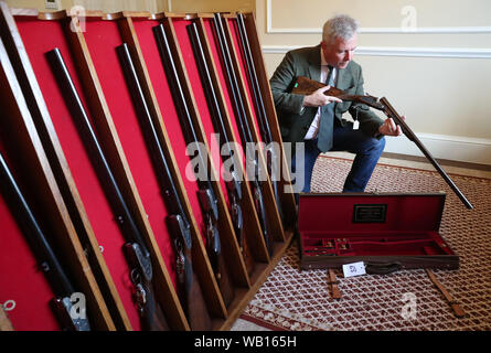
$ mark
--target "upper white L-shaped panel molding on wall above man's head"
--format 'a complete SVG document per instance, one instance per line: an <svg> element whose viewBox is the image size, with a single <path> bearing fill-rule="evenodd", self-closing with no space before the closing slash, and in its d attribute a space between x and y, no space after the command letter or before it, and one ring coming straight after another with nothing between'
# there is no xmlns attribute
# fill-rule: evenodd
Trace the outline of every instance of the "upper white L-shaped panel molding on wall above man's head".
<svg viewBox="0 0 491 353"><path fill-rule="evenodd" d="M321 28L273 28L273 0L266 0L267 34L322 34ZM360 28L370 34L480 34L491 33L491 26L421 26L421 28Z"/></svg>

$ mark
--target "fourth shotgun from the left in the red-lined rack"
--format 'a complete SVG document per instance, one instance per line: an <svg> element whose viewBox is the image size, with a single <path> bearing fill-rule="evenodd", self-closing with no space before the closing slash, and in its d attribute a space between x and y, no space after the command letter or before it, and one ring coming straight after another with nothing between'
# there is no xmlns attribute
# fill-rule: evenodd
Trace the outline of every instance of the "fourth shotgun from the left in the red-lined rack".
<svg viewBox="0 0 491 353"><path fill-rule="evenodd" d="M199 159L199 165L207 167L207 158L204 151L201 149L201 143L198 138L196 128L191 117L191 111L188 107L186 98L184 95L181 79L175 67L174 57L170 49L169 40L166 34L163 24L156 25L153 28L153 34L159 49L160 58L168 77L170 90L172 93L172 99L178 111L179 119L181 121L182 132L184 135L185 142L196 143L198 151L196 158ZM234 289L232 287L228 272L225 268L223 254L221 249L221 239L217 228L218 222L218 201L213 191L213 185L210 178L200 178L196 175L198 181L198 196L202 208L202 214L205 225L206 234L206 249L210 258L210 263L215 275L215 279L218 284L220 291L222 292L225 304L232 302L234 297Z"/></svg>

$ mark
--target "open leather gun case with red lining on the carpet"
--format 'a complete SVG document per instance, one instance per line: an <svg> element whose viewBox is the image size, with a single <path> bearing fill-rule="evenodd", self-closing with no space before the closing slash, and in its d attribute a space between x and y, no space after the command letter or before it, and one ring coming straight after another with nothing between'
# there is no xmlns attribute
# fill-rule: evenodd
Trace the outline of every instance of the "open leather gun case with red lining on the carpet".
<svg viewBox="0 0 491 353"><path fill-rule="evenodd" d="M302 269L363 261L367 272L459 268L439 234L445 193L301 193Z"/></svg>

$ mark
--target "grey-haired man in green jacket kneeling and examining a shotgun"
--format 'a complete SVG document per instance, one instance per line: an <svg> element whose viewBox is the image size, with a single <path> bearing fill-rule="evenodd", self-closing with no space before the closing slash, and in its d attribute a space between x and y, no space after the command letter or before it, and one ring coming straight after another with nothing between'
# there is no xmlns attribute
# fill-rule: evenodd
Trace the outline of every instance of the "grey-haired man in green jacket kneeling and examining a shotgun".
<svg viewBox="0 0 491 353"><path fill-rule="evenodd" d="M296 143L305 142L303 161L300 152L291 159L297 192L310 191L313 164L318 156L327 151L356 154L343 192L363 192L384 150L384 136L402 133L401 127L392 119L382 120L367 106L323 94L330 86L346 94L364 94L362 68L352 61L356 31L356 21L348 15L328 20L322 42L288 52L270 79L284 142L291 142L297 151L301 149L296 148ZM309 96L291 94L298 76L307 76L328 86ZM354 124L342 119L345 111L351 114ZM301 181L299 185L299 176L303 178L303 188Z"/></svg>

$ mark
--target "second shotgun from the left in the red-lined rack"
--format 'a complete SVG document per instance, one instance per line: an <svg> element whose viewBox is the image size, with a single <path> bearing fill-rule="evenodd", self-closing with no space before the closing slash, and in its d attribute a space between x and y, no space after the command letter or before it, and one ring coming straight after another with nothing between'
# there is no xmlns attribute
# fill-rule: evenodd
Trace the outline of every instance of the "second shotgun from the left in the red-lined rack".
<svg viewBox="0 0 491 353"><path fill-rule="evenodd" d="M115 220L125 237L122 253L130 269L130 279L134 285L134 301L138 308L141 328L146 331L169 330L169 325L154 297L153 270L150 252L138 228L119 185L113 174L109 163L97 140L95 130L73 84L60 50L56 47L46 54L47 62L56 79L58 88L71 111L78 129L87 154L96 171L103 190L110 201Z"/></svg>

